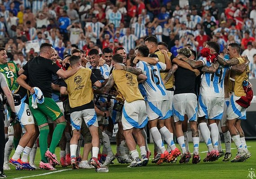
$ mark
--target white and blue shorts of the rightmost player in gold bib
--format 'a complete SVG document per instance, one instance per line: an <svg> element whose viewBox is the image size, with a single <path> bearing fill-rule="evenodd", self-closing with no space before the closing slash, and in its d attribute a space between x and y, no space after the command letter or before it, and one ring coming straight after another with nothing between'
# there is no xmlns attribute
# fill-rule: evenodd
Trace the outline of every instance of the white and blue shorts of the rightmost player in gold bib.
<svg viewBox="0 0 256 179"><path fill-rule="evenodd" d="M229 119L246 119L246 109L241 107L236 100L241 97L238 97L234 94L234 92L230 96L230 105L227 111L227 120Z"/></svg>

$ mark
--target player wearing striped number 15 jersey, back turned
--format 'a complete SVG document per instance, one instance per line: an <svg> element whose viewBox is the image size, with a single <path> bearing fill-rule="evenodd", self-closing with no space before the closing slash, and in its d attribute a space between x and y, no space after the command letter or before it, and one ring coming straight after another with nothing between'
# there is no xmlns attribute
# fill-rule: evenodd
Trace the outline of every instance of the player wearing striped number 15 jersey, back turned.
<svg viewBox="0 0 256 179"><path fill-rule="evenodd" d="M137 60L140 60L140 57L147 58L148 55L149 49L145 45L137 48ZM169 61L169 63L171 62ZM153 65L144 61L139 61L136 68L121 65L115 65L115 68L123 69L136 75L146 73L147 79L142 83L142 86L140 85L140 91L141 94L144 94L146 101L146 111L149 117L150 132L154 142L162 153L157 163L161 164L165 160L170 162L172 160L172 156L168 153L165 147L162 146L161 138L162 134L167 144L169 146L171 145L172 136L168 129L164 126L164 119L168 119L170 117L167 115L168 111L170 111L170 107L168 105L168 94L164 88L163 81L160 78L160 69L165 70L166 65L161 62ZM160 129L157 128L158 124ZM146 156L141 156L141 158L143 164L145 165L148 162L148 158L146 158Z"/></svg>

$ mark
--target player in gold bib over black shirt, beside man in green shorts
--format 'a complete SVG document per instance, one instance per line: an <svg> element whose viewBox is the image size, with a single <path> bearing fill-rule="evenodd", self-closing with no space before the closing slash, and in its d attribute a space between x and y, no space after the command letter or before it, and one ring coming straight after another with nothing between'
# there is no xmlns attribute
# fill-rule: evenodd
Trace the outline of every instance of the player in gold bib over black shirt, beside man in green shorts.
<svg viewBox="0 0 256 179"><path fill-rule="evenodd" d="M80 56L72 55L69 60L72 69L75 69L81 65ZM97 80L97 77L95 77L92 71L88 68L81 68L74 75L67 78L65 82L66 87L62 86L61 91L67 90L71 107L73 136L70 141L70 151L72 169L79 169L76 162L75 153L77 149L77 142L80 138L82 120L84 120L92 135L93 158L91 160L91 164L96 168L99 168L100 164L97 159L99 152L99 135L97 116L93 103L92 84L97 87L101 87L101 82Z"/></svg>

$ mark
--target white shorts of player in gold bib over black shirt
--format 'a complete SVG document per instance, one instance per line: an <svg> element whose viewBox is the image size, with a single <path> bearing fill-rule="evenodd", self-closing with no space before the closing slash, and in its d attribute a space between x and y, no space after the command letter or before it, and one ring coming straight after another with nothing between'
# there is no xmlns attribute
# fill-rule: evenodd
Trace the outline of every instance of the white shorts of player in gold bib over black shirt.
<svg viewBox="0 0 256 179"><path fill-rule="evenodd" d="M98 127L97 115L94 109L85 109L82 111L75 111L70 114L72 130L81 129L82 120L84 120L87 127L91 125Z"/></svg>

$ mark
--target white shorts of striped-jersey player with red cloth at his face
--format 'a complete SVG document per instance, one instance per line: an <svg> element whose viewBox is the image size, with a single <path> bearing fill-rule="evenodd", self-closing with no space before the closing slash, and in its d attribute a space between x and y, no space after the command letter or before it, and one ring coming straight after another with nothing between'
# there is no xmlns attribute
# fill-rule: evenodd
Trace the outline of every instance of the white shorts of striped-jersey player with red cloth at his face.
<svg viewBox="0 0 256 179"><path fill-rule="evenodd" d="M222 119L224 98L201 96L198 98L198 117L205 119Z"/></svg>

